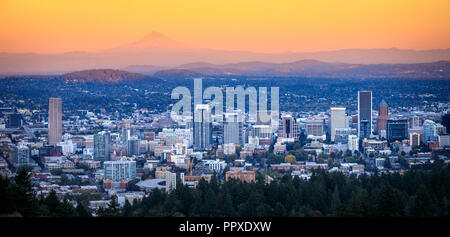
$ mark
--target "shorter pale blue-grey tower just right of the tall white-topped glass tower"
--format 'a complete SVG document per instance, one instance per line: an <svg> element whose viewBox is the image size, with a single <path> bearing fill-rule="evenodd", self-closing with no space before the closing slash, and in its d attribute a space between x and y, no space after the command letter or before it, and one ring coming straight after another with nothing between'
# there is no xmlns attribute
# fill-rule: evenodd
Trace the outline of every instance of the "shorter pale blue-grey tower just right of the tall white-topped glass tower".
<svg viewBox="0 0 450 237"><path fill-rule="evenodd" d="M238 122L238 113L224 113L223 143L241 144L245 143L243 123Z"/></svg>

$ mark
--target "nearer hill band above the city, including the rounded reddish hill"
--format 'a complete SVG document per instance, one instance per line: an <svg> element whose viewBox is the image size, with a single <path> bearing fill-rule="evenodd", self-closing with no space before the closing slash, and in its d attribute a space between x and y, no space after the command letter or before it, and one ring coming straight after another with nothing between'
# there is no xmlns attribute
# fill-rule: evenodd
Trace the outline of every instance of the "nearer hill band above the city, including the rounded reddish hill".
<svg viewBox="0 0 450 237"><path fill-rule="evenodd" d="M140 65L138 69L149 68ZM145 73L145 71L144 71ZM150 76L151 75L151 76ZM273 76L302 78L409 78L450 79L450 61L420 64L345 64L300 60L291 63L242 62L235 64L190 63L145 75L114 69L91 69L60 76L71 82L117 83L147 78L196 78L202 76Z"/></svg>

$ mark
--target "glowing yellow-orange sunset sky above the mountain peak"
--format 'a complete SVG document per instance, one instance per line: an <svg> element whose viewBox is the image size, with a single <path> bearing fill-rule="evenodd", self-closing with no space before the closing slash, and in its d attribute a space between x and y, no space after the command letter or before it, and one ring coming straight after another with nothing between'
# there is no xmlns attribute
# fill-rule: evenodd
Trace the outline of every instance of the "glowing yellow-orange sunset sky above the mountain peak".
<svg viewBox="0 0 450 237"><path fill-rule="evenodd" d="M0 52L95 51L152 31L256 52L450 48L450 0L0 0Z"/></svg>

